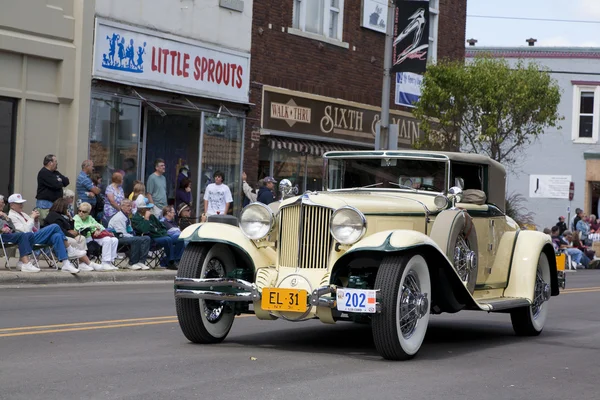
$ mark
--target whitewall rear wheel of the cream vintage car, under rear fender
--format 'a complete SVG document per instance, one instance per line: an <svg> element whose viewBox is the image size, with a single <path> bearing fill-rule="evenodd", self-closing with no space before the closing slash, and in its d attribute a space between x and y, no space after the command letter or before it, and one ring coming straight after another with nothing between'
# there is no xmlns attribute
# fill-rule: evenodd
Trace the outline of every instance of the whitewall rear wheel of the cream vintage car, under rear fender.
<svg viewBox="0 0 600 400"><path fill-rule="evenodd" d="M550 263L545 253L540 254L535 275L531 306L517 308L510 312L513 329L519 336L537 336L542 333L546 324L551 290Z"/></svg>

